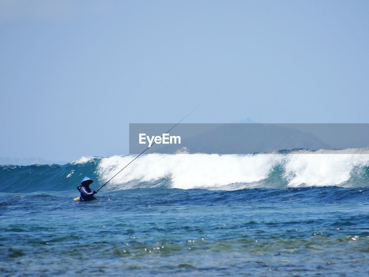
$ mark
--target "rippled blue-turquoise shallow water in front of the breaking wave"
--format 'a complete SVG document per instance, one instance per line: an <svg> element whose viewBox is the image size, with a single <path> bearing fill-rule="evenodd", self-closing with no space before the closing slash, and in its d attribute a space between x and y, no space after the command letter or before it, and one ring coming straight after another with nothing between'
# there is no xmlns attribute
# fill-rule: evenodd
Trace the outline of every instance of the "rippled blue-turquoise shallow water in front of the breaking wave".
<svg viewBox="0 0 369 277"><path fill-rule="evenodd" d="M359 192L360 191L360 192ZM358 188L1 193L4 276L359 276L369 272Z"/></svg>

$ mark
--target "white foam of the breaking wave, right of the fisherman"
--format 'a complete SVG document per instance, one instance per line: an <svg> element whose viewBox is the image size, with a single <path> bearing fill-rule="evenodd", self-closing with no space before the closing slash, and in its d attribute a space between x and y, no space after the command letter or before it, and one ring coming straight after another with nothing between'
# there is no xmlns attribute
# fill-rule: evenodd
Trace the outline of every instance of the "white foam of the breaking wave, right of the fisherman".
<svg viewBox="0 0 369 277"><path fill-rule="evenodd" d="M131 188L137 182L168 178L171 187L234 190L251 187L352 186L348 181L357 168L369 166L369 154L340 154L321 150L313 154L148 154L139 157L110 181L111 189ZM307 153L300 151L300 153ZM334 154L337 153L337 154ZM360 153L358 151L357 153ZM102 158L97 169L106 182L133 156ZM263 182L276 166L283 169L273 181Z"/></svg>

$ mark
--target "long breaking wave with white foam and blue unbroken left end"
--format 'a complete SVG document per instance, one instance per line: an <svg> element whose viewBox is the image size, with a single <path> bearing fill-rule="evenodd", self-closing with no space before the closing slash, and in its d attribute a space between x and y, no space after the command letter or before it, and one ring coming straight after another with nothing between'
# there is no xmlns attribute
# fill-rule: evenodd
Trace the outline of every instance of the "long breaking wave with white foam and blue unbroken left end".
<svg viewBox="0 0 369 277"><path fill-rule="evenodd" d="M361 150L288 150L248 155L148 154L113 178L105 190L146 187L237 190L287 187L366 187L369 154ZM2 165L1 192L74 190L85 176L98 187L134 156L82 157L65 165Z"/></svg>

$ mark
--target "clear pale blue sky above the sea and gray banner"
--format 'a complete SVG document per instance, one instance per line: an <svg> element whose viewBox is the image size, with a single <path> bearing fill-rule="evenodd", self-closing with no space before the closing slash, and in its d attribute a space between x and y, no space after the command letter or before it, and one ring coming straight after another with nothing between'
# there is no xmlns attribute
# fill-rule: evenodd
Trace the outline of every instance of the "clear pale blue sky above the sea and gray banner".
<svg viewBox="0 0 369 277"><path fill-rule="evenodd" d="M0 157L128 153L129 123L367 123L369 1L0 1Z"/></svg>

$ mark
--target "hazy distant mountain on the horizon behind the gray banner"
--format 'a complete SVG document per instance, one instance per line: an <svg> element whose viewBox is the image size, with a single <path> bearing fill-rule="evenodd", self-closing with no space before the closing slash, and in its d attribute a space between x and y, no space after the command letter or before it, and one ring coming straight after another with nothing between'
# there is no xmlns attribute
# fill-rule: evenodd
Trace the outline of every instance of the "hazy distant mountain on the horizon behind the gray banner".
<svg viewBox="0 0 369 277"><path fill-rule="evenodd" d="M331 149L312 133L279 124L214 124L213 129L194 136L181 134L180 128L175 134L181 136L181 144L157 144L148 151L176 153L186 147L189 153L249 154L295 148Z"/></svg>

